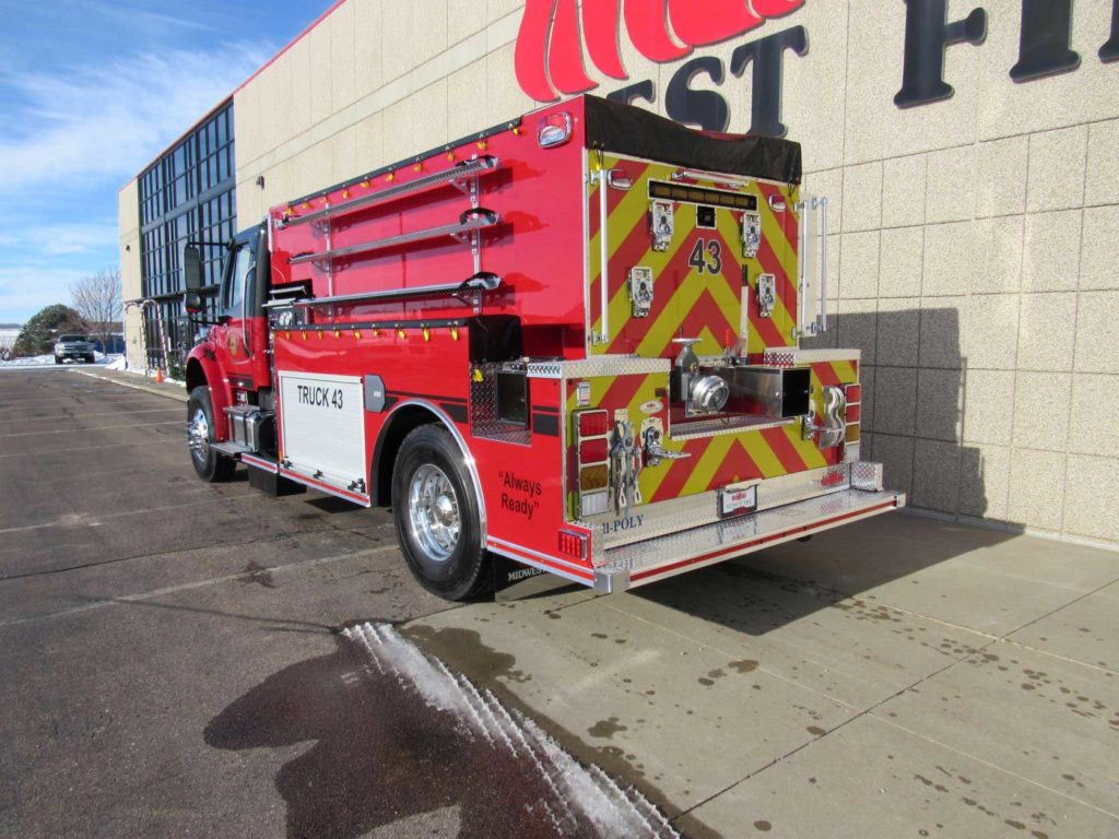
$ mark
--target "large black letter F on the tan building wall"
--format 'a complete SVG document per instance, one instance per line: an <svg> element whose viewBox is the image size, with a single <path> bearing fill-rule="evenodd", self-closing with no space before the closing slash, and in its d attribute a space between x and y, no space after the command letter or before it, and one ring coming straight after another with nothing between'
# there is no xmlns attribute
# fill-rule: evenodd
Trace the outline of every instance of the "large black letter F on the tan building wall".
<svg viewBox="0 0 1119 839"><path fill-rule="evenodd" d="M955 44L984 43L987 12L972 9L963 20L948 22L948 0L905 0L905 65L897 107L947 100L952 86L944 82L944 49Z"/></svg>

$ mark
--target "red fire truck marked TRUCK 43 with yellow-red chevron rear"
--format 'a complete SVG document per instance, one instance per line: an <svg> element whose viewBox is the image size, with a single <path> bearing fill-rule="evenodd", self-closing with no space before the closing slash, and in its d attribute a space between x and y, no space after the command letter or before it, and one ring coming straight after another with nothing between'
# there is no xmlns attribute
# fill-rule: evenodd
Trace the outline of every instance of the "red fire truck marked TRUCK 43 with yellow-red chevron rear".
<svg viewBox="0 0 1119 839"><path fill-rule="evenodd" d="M186 365L195 469L391 505L453 600L495 557L617 592L901 507L858 351L801 347L800 177L797 143L580 96L274 207Z"/></svg>

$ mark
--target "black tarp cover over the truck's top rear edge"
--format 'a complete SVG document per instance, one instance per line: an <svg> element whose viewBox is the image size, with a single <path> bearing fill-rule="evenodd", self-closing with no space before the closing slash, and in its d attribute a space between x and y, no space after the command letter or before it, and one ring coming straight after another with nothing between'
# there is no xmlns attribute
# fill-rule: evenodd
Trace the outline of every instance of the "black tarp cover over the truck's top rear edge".
<svg viewBox="0 0 1119 839"><path fill-rule="evenodd" d="M800 183L800 143L746 134L708 134L620 102L584 96L586 145L711 172Z"/></svg>

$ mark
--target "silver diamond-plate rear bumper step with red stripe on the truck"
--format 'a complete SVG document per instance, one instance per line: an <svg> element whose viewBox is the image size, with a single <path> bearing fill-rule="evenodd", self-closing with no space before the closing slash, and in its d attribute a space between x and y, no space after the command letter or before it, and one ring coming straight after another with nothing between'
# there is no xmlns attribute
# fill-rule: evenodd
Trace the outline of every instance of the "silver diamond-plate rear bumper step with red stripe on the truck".
<svg viewBox="0 0 1119 839"><path fill-rule="evenodd" d="M904 492L844 489L749 516L608 548L594 587L621 592L905 506Z"/></svg>

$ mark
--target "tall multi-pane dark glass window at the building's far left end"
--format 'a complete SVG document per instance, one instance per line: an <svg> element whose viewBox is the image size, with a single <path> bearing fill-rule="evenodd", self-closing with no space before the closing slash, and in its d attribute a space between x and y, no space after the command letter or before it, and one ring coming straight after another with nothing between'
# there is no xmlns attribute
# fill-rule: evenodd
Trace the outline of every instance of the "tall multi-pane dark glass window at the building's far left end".
<svg viewBox="0 0 1119 839"><path fill-rule="evenodd" d="M233 101L145 169L138 186L141 289L162 315L161 336L156 310L144 307L149 364L162 361L162 342L169 364L178 365L194 343L182 309L182 248L187 242L201 244L205 282L216 291L223 251L209 245L229 242L237 229ZM206 313L216 315L217 295L204 300Z"/></svg>

